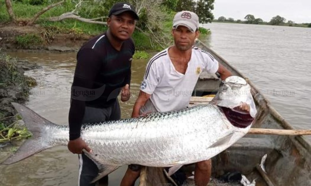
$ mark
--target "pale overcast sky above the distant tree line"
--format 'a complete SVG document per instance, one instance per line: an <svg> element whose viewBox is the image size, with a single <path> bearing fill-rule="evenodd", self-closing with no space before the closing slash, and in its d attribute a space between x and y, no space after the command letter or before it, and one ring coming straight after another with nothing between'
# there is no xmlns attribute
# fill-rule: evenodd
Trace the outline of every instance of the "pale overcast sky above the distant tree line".
<svg viewBox="0 0 311 186"><path fill-rule="evenodd" d="M220 16L244 20L248 14L269 22L280 15L295 23L311 23L311 0L215 0L212 11Z"/></svg>

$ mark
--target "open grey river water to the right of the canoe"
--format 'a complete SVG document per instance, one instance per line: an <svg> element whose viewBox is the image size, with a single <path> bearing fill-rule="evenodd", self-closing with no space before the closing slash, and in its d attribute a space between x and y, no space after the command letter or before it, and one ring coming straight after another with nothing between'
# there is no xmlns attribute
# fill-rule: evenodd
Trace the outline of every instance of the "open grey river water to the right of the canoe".
<svg viewBox="0 0 311 186"><path fill-rule="evenodd" d="M207 43L248 77L295 128L311 128L311 29L205 24ZM311 138L309 138L311 139Z"/></svg>

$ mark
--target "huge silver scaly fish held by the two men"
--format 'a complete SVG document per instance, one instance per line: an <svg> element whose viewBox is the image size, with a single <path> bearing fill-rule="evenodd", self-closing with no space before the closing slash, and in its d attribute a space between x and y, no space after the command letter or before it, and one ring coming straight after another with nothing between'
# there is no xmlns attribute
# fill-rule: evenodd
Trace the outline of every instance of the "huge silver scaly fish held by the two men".
<svg viewBox="0 0 311 186"><path fill-rule="evenodd" d="M235 106L240 104L238 96L242 102L249 98L244 95L245 90L250 94L249 85L241 79L226 79L226 87L216 96L216 102L222 107L208 104L95 125L85 124L81 137L93 150L93 153L86 154L99 167L100 177L126 164L167 167L210 159L243 137L253 122L254 112L251 116L223 105L225 99L229 102L232 99L228 91L234 91L232 100ZM232 108L233 102L230 102ZM33 136L3 164L18 162L56 145L67 145L68 126L54 124L23 105L12 104Z"/></svg>

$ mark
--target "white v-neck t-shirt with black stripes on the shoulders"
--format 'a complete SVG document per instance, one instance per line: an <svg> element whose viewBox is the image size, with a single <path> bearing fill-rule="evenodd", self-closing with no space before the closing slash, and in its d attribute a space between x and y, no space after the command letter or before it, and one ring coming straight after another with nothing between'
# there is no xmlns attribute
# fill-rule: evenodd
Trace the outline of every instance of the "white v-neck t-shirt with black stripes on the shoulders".
<svg viewBox="0 0 311 186"><path fill-rule="evenodd" d="M159 112L186 108L203 70L218 70L218 61L208 52L193 47L186 73L182 74L175 70L167 48L149 60L140 90L151 94L150 100Z"/></svg>

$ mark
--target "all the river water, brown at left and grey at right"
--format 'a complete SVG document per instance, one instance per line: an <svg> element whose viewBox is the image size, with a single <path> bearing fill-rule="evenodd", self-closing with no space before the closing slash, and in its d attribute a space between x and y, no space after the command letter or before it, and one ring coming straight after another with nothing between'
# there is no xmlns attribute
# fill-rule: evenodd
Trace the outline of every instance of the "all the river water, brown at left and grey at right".
<svg viewBox="0 0 311 186"><path fill-rule="evenodd" d="M204 42L246 75L296 128L310 128L311 29L267 25L204 25L212 34ZM76 53L8 53L38 63L27 71L38 86L30 91L27 106L58 124L67 124L70 86ZM130 117L147 60L132 63L132 97L121 103L122 117ZM9 153L1 152L0 161ZM77 155L54 147L10 166L0 166L3 186L75 186ZM109 185L119 185L126 167L109 175Z"/></svg>

